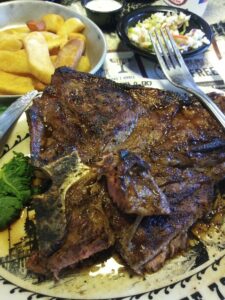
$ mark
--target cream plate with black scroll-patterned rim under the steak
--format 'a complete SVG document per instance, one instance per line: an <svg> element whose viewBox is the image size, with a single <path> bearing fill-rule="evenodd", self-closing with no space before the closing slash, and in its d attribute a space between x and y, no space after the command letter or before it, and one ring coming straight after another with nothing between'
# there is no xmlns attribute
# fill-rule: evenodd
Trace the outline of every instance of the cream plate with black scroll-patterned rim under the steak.
<svg viewBox="0 0 225 300"><path fill-rule="evenodd" d="M165 81L157 86L165 88ZM173 89L167 83L169 90ZM208 90L209 91L209 90ZM215 90L211 90L215 91ZM29 154L26 115L23 114L11 132L0 166L13 151ZM9 234L12 234L12 232ZM11 252L8 262L0 259L0 294L4 300L28 299L117 299L120 300L219 300L225 297L225 224L212 228L199 244L183 255L169 260L156 273L144 277L132 276L120 264L109 258L105 266L67 274L59 282L37 284L26 275L24 258ZM23 243L26 241L23 241ZM17 245L19 251L21 244ZM15 249L14 249L15 251ZM23 256L23 252L20 255ZM2 279L1 279L2 277ZM4 278L4 279L3 279ZM44 296L48 295L50 296Z"/></svg>

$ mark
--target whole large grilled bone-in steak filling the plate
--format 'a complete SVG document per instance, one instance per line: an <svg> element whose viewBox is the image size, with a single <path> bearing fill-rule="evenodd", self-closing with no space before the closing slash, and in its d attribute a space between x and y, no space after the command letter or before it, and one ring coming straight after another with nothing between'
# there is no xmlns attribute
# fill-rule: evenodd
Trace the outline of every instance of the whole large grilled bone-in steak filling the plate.
<svg viewBox="0 0 225 300"><path fill-rule="evenodd" d="M34 199L38 274L111 246L136 273L156 271L187 247L225 177L225 134L194 98L59 68L27 116L32 163L53 179Z"/></svg>

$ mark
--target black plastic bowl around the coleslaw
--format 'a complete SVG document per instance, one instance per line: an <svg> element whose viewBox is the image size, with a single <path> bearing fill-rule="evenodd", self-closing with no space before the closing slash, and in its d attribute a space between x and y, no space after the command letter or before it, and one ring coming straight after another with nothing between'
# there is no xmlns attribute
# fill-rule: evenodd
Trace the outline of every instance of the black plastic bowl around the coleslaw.
<svg viewBox="0 0 225 300"><path fill-rule="evenodd" d="M154 53L138 47L135 43L130 41L130 39L128 38L128 35L127 35L128 28L135 26L138 21L143 21L144 19L150 17L152 14L154 14L156 12L163 12L163 13L183 12L186 15L190 15L191 18L189 21L189 26L187 28L187 31L189 31L193 28L201 29L205 33L207 39L211 43L212 35L213 35L212 30L211 30L209 24L205 20L203 20L201 17L199 17L198 15L196 15L186 9L172 7L172 6L145 6L145 7L133 10L129 14L125 15L123 18L120 19L120 21L117 25L117 33L118 33L121 41L123 43L125 43L127 47L129 47L133 51L135 51L136 53L138 53L142 56L145 56L147 58L150 58L152 60L156 60L156 55ZM202 53L209 46L210 46L210 44L204 44L197 49L185 51L182 53L182 56L184 58L187 58L187 57L191 57L193 55Z"/></svg>

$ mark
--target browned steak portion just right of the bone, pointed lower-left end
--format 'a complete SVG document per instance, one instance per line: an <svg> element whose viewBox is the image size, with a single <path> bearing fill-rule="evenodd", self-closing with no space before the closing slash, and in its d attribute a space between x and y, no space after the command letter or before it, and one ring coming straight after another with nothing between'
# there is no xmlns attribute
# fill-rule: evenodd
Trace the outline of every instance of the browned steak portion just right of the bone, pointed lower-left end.
<svg viewBox="0 0 225 300"><path fill-rule="evenodd" d="M61 190L55 191L55 199L61 194ZM49 195L49 193L47 193ZM51 194L52 196L52 194ZM102 185L98 182L95 170L85 170L85 175L75 183L69 185L65 195L65 214L67 225L64 230L63 242L55 245L56 240L48 240L47 236L39 236L39 251L35 252L27 262L28 268L40 275L53 274L58 279L59 273L66 267L108 249L115 242L114 233L109 225L109 220L103 210L103 200L107 197ZM46 197L47 198L47 197ZM52 199L52 198L51 198ZM49 199L47 198L47 201ZM36 211L41 215L42 203L35 203ZM50 208L49 209L50 214ZM54 207L53 207L54 209ZM49 216L48 222L58 224L59 218L55 217L54 210ZM57 216L58 217L58 216ZM42 228L39 223L38 228ZM44 221L43 221L44 222ZM45 224L45 228L48 227ZM50 227L52 229L52 227ZM50 236L51 238L51 236ZM55 251L47 251L43 246L55 246ZM57 247L56 247L57 246Z"/></svg>

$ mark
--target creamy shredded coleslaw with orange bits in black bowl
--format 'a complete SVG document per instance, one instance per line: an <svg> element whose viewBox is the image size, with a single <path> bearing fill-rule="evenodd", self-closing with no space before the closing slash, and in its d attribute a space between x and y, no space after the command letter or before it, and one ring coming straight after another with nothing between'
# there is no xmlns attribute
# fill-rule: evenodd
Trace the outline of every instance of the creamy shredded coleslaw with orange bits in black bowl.
<svg viewBox="0 0 225 300"><path fill-rule="evenodd" d="M183 12L154 13L149 18L139 21L134 27L130 27L128 38L140 48L153 52L149 32L168 27L181 52L209 44L210 41L201 29L191 29L187 32L190 17Z"/></svg>

